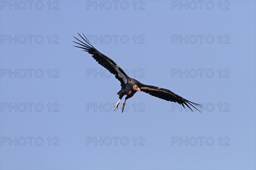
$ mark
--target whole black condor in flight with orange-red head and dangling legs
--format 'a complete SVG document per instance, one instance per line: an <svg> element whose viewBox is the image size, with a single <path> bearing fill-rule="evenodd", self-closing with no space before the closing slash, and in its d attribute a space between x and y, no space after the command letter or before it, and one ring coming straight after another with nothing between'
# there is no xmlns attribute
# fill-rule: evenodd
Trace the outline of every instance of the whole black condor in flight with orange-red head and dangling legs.
<svg viewBox="0 0 256 170"><path fill-rule="evenodd" d="M83 34L84 35L84 34ZM93 58L103 67L108 69L112 74L115 75L116 79L118 79L121 82L121 90L117 93L119 95L118 102L113 106L114 111L116 108L118 108L119 102L122 99L124 95L125 102L127 99L131 98L137 91L143 91L147 94L150 94L151 96L158 97L160 99L164 99L171 102L177 102L178 104L182 105L185 108L185 105L193 111L190 107L192 106L196 110L197 106L199 108L202 108L202 105L199 105L194 102L190 102L187 99L184 99L183 97L173 93L172 91L164 88L155 87L152 85L144 85L137 81L136 79L133 79L125 74L125 72L122 70L122 68L119 67L111 58L105 56L101 52L99 52L96 48L93 47L93 45L89 42L89 40L84 36L82 37L80 34L79 36L82 38L82 40L77 39L79 42L75 42L76 44L80 46L75 46L78 48L82 48L83 51L88 52L93 56ZM122 103L121 110L124 111L125 102ZM198 110L199 111L199 110ZM201 111L200 111L201 112Z"/></svg>

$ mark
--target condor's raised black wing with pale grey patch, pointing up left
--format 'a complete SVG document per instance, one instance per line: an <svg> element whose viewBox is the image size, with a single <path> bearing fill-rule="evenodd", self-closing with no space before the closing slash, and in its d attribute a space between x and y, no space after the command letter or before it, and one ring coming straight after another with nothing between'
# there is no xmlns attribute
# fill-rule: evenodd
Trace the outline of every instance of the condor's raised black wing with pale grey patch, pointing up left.
<svg viewBox="0 0 256 170"><path fill-rule="evenodd" d="M88 41L88 39L85 36L82 37L80 34L79 34L79 36L84 41L81 41L81 40L77 39L76 37L74 37L79 42L75 42L75 41L73 41L73 42L75 42L78 45L81 45L81 46L75 46L75 47L82 48L82 49L84 49L83 51L87 51L89 54L91 54L93 56L93 58L100 65L102 65L103 67L108 69L108 71L110 71L112 74L114 74L116 79L118 79L121 82L121 85L126 84L128 76L125 74L125 72L122 70L122 68L120 68L111 58L105 56L104 54L99 52L96 48L94 48L93 45Z"/></svg>

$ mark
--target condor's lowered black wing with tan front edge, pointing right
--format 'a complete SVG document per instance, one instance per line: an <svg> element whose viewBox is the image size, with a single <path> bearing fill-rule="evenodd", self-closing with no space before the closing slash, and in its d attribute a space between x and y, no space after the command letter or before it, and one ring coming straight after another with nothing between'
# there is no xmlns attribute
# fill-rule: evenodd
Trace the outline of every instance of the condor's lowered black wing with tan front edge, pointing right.
<svg viewBox="0 0 256 170"><path fill-rule="evenodd" d="M184 99L183 97L173 93L172 91L170 91L168 89L159 88L159 87L155 87L152 85L141 85L140 91L143 91L147 94L150 94L151 96L155 96L160 99L164 99L164 100L171 101L171 102L177 102L180 105L182 105L183 108L185 108L185 105L186 105L191 111L192 111L192 109L190 108L190 106L192 106L196 110L198 110L198 108L196 108L196 106L198 106L199 108L202 108L202 105L199 105L194 102L190 102L189 100Z"/></svg>

